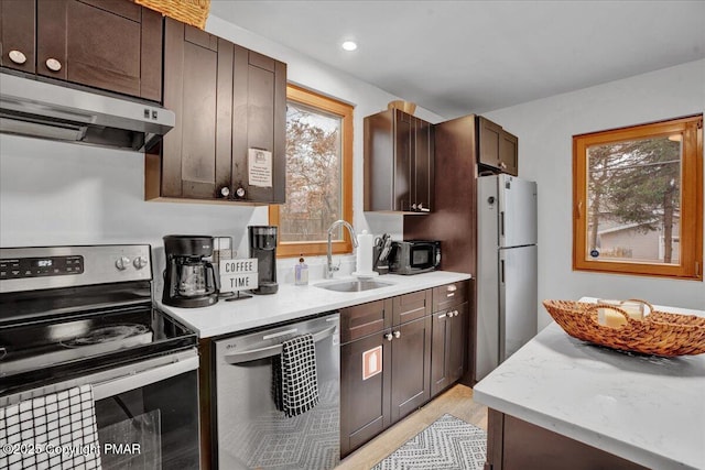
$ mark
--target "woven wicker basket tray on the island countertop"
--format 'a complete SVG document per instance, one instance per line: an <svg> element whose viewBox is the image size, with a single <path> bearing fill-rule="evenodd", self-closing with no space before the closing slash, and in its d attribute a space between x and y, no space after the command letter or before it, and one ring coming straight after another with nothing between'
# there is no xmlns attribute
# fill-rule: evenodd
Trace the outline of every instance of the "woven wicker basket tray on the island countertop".
<svg viewBox="0 0 705 470"><path fill-rule="evenodd" d="M543 306L565 332L583 341L622 351L666 357L705 352L704 317L666 314L651 308L651 315L637 320L614 305L543 300ZM627 325L620 328L599 325L597 309L604 307L625 315Z"/></svg>

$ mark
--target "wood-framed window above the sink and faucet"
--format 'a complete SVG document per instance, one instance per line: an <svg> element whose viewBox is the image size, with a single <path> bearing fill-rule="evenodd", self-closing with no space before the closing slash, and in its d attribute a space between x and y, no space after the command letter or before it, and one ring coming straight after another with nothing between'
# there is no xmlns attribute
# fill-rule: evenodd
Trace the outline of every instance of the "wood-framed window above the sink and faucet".
<svg viewBox="0 0 705 470"><path fill-rule="evenodd" d="M293 85L286 99L286 204L269 209L276 254L325 254L330 223L352 223L352 107ZM352 252L341 227L333 252Z"/></svg>

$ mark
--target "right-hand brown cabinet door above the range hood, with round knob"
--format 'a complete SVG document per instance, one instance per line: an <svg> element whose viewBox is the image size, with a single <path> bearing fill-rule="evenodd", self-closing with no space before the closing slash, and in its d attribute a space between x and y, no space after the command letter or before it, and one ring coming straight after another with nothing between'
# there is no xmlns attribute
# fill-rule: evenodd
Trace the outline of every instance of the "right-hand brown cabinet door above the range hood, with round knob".
<svg viewBox="0 0 705 470"><path fill-rule="evenodd" d="M162 17L126 0L39 0L36 73L161 100Z"/></svg>

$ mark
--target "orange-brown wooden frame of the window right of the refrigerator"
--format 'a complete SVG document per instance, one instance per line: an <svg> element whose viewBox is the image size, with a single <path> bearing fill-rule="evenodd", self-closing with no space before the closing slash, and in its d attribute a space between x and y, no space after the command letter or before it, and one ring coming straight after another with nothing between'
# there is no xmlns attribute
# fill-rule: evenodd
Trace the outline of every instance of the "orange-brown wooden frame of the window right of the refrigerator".
<svg viewBox="0 0 705 470"><path fill-rule="evenodd" d="M679 264L586 259L587 149L675 133L682 135L683 145ZM703 281L703 114L573 135L573 271Z"/></svg>

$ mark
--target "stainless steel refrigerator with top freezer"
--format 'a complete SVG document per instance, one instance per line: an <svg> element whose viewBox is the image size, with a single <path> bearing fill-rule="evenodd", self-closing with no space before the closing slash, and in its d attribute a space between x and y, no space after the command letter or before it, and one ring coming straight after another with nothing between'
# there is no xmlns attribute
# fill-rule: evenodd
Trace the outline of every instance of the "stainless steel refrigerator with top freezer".
<svg viewBox="0 0 705 470"><path fill-rule="evenodd" d="M536 184L478 178L477 332L479 381L536 334Z"/></svg>

